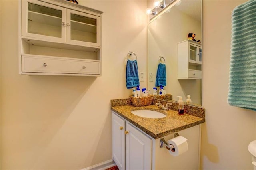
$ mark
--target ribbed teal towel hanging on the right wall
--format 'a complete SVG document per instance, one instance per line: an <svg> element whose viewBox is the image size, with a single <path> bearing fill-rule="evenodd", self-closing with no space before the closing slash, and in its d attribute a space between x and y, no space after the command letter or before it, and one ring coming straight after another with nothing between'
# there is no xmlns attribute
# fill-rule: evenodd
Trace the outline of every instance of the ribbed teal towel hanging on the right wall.
<svg viewBox="0 0 256 170"><path fill-rule="evenodd" d="M256 111L256 0L232 12L228 103Z"/></svg>

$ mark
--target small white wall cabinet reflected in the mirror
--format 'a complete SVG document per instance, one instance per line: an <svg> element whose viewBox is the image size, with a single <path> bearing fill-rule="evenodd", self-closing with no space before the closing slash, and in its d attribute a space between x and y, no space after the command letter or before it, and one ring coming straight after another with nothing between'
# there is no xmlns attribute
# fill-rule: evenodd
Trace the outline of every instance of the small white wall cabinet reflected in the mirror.
<svg viewBox="0 0 256 170"><path fill-rule="evenodd" d="M202 79L202 46L185 40L178 43L178 79Z"/></svg>

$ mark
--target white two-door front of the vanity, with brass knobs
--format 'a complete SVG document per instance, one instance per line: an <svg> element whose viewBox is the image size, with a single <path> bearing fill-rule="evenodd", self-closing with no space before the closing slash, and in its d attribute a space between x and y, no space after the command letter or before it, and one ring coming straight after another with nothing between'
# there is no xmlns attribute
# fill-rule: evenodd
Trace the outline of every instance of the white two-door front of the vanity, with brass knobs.
<svg viewBox="0 0 256 170"><path fill-rule="evenodd" d="M152 140L112 113L113 160L120 170L152 169Z"/></svg>

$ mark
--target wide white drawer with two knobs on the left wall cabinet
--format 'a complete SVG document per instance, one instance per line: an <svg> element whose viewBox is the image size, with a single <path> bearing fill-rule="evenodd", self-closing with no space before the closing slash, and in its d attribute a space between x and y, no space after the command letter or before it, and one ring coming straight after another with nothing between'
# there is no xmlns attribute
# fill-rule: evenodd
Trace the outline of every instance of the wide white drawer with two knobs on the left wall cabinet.
<svg viewBox="0 0 256 170"><path fill-rule="evenodd" d="M100 62L64 57L22 55L22 72L100 75Z"/></svg>

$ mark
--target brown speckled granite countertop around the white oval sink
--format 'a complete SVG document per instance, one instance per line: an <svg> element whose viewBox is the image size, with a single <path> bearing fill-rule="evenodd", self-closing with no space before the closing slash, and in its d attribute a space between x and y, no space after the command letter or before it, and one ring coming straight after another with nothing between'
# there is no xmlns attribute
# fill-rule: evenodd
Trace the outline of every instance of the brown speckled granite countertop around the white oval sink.
<svg viewBox="0 0 256 170"><path fill-rule="evenodd" d="M177 111L164 111L155 105L135 107L133 105L111 106L112 111L138 127L140 130L150 135L154 139L162 138L168 134L179 132L186 128L193 127L205 122L204 117L197 117L184 113L178 115ZM139 117L131 113L133 110L148 109L164 113L166 117L152 119Z"/></svg>

